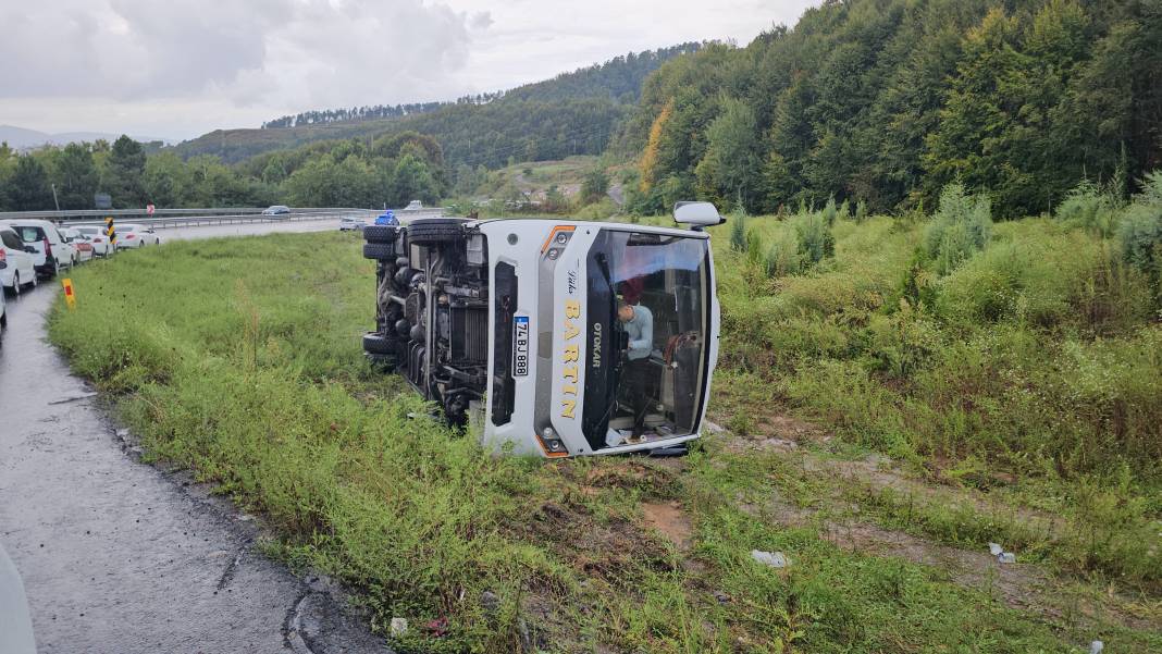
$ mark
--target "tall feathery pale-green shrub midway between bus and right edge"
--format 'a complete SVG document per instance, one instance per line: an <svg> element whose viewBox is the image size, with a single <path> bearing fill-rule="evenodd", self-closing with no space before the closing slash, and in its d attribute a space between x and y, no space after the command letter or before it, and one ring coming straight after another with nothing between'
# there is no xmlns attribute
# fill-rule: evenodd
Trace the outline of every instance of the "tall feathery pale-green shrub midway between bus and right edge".
<svg viewBox="0 0 1162 654"><path fill-rule="evenodd" d="M991 232L989 197L968 195L963 186L951 184L940 194L940 208L924 233L924 247L937 273L945 275L983 250Z"/></svg>

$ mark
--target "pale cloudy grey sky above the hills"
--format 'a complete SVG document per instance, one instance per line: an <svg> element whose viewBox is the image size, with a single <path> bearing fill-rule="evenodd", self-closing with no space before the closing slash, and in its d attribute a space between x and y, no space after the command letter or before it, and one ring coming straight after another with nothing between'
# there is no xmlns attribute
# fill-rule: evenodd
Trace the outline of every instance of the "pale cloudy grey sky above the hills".
<svg viewBox="0 0 1162 654"><path fill-rule="evenodd" d="M747 44L818 0L0 0L0 124L180 141Z"/></svg>

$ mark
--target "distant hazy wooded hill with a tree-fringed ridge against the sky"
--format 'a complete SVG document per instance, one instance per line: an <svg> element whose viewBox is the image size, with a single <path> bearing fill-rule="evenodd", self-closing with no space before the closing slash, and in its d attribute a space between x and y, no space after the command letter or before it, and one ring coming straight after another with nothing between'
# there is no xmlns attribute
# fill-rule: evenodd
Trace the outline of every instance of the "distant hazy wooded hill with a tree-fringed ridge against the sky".
<svg viewBox="0 0 1162 654"><path fill-rule="evenodd" d="M400 107L383 106L303 112L267 123L295 127L215 130L180 143L174 152L182 158L215 154L237 163L313 141L370 139L414 130L435 137L452 165L500 166L509 158L597 154L626 115L625 103L637 101L643 80L665 62L698 49L697 43L683 43L630 53L509 92L466 96L439 108L417 105L407 115L400 115ZM388 117L364 117L368 115Z"/></svg>

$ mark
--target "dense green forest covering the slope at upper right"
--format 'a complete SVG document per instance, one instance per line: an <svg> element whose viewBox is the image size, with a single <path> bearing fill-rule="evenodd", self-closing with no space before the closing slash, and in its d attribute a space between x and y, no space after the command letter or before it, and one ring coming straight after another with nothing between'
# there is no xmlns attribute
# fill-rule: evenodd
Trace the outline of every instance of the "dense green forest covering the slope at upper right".
<svg viewBox="0 0 1162 654"><path fill-rule="evenodd" d="M952 181L1002 216L1162 164L1156 0L830 0L744 49L650 77L617 148L638 211L924 203Z"/></svg>

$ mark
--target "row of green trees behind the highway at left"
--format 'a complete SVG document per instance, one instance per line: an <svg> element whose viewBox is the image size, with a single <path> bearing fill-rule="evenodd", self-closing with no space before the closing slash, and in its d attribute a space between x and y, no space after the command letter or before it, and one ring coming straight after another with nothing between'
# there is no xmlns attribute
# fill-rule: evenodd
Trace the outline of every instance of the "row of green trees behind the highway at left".
<svg viewBox="0 0 1162 654"><path fill-rule="evenodd" d="M0 145L0 210L165 207L402 207L435 204L447 187L439 144L416 132L330 141L227 165L209 154L146 154L128 136L17 153ZM55 193L55 195L53 195Z"/></svg>

